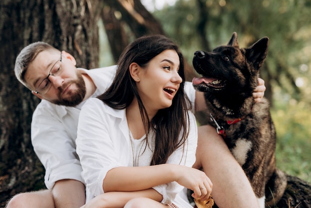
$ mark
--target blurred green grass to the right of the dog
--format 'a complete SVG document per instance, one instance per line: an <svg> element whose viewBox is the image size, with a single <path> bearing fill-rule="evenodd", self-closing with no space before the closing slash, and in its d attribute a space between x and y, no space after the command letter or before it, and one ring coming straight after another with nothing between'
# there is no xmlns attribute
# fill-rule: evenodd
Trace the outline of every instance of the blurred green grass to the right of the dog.
<svg viewBox="0 0 311 208"><path fill-rule="evenodd" d="M305 103L275 104L277 167L311 183L311 108Z"/></svg>

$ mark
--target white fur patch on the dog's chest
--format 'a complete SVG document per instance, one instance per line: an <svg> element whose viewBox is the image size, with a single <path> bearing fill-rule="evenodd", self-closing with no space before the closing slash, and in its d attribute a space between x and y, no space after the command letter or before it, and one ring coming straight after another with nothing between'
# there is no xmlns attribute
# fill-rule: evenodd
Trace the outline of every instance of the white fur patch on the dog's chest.
<svg viewBox="0 0 311 208"><path fill-rule="evenodd" d="M242 166L247 158L247 152L251 149L252 144L246 139L238 139L232 149L232 154L236 161Z"/></svg>

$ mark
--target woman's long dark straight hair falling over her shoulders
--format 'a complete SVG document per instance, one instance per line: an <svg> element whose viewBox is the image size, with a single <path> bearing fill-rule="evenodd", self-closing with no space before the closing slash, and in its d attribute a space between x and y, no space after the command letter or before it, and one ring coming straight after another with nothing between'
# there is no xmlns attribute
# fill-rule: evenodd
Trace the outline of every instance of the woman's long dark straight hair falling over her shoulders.
<svg viewBox="0 0 311 208"><path fill-rule="evenodd" d="M174 50L179 57L179 75L182 78L179 90L173 98L172 105L160 109L150 121L146 108L137 92L136 82L130 75L129 66L135 62L142 68L146 67L151 59L165 50ZM151 129L155 131L155 151L151 165L166 163L168 157L179 147L184 147L188 136L189 115L191 105L184 93L184 60L178 46L163 35L148 35L136 39L128 45L118 62L116 76L112 85L98 99L115 109L124 109L136 97L142 115L146 135ZM181 140L179 134L182 132Z"/></svg>

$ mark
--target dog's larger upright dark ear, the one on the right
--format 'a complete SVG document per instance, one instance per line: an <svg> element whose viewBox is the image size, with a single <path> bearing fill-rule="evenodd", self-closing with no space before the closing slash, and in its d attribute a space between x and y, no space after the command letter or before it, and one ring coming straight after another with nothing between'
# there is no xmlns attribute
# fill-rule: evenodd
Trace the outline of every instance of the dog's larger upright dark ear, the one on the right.
<svg viewBox="0 0 311 208"><path fill-rule="evenodd" d="M268 53L269 38L263 37L253 45L245 49L246 59L253 63L256 69L259 69Z"/></svg>

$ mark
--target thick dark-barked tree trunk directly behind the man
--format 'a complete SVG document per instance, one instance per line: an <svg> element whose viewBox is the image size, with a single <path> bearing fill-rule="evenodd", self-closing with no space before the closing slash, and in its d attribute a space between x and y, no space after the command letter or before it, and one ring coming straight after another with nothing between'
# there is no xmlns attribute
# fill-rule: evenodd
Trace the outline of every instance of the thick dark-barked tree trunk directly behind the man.
<svg viewBox="0 0 311 208"><path fill-rule="evenodd" d="M99 2L0 1L0 207L19 192L45 188L44 168L30 140L39 100L15 78L15 58L29 43L44 41L74 55L78 66L96 68Z"/></svg>

